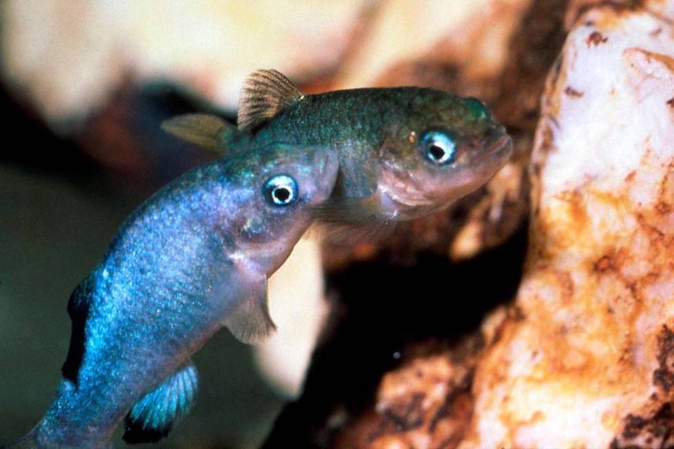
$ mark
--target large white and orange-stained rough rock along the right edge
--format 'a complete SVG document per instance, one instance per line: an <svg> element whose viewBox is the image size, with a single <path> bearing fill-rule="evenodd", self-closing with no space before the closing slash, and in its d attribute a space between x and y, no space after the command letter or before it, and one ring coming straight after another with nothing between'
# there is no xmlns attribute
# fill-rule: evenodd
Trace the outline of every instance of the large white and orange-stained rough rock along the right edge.
<svg viewBox="0 0 674 449"><path fill-rule="evenodd" d="M580 18L536 136L521 318L477 365L460 447L674 443L673 98L671 23Z"/></svg>

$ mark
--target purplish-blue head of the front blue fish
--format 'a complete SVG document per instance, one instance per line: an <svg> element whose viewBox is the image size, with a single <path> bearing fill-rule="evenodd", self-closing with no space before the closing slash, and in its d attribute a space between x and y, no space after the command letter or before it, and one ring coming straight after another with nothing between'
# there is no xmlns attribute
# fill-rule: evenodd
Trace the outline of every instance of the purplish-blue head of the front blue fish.
<svg viewBox="0 0 674 449"><path fill-rule="evenodd" d="M241 157L246 166L239 166L237 175L244 195L230 232L237 237L238 256L270 275L311 225L314 208L329 198L339 162L330 149L287 144Z"/></svg>

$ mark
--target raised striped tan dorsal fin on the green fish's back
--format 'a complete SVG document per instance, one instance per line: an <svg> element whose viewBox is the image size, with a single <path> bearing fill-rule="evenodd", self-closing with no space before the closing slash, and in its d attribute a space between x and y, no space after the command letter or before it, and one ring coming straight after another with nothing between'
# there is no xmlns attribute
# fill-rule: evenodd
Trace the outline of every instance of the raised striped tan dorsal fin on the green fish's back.
<svg viewBox="0 0 674 449"><path fill-rule="evenodd" d="M285 107L303 98L288 78L276 70L258 70L248 76L239 100L239 130L251 131Z"/></svg>

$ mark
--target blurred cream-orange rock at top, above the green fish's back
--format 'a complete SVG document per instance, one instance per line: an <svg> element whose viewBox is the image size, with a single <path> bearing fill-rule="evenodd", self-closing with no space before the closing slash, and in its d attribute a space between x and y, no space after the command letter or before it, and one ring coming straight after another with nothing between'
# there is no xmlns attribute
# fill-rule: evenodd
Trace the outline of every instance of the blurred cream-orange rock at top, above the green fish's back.
<svg viewBox="0 0 674 449"><path fill-rule="evenodd" d="M514 26L530 0L388 0L340 66L334 87L368 87L396 64L437 54L466 63L466 76L494 76L508 57ZM470 64L468 64L470 61Z"/></svg>

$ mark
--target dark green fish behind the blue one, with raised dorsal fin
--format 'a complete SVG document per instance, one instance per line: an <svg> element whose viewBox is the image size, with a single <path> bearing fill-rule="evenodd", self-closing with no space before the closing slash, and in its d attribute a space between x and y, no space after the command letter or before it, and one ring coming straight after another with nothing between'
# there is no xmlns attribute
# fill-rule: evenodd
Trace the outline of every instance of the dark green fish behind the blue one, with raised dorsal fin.
<svg viewBox="0 0 674 449"><path fill-rule="evenodd" d="M275 70L246 80L238 127L206 114L162 127L219 155L270 144L332 149L338 179L316 215L375 227L446 208L485 184L512 153L505 128L476 98L423 87L304 95Z"/></svg>

